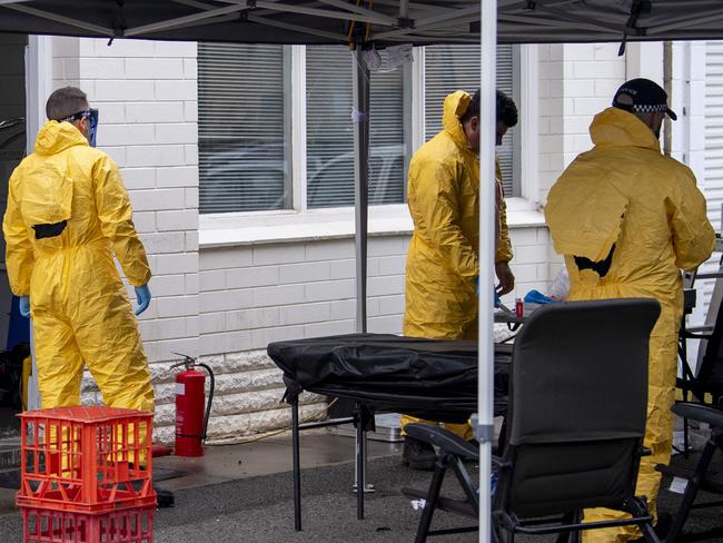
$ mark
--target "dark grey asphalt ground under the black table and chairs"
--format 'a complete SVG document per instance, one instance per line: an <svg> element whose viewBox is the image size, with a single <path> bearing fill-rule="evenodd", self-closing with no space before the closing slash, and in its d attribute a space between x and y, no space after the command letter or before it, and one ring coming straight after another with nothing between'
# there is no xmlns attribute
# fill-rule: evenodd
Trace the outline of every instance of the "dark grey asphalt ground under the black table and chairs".
<svg viewBox="0 0 723 543"><path fill-rule="evenodd" d="M327 437L320 437L326 440ZM335 437L336 440L347 440ZM314 441L314 440L311 440ZM349 440L343 441L348 448ZM263 446L260 447L263 450ZM239 450L240 451L240 450ZM338 460L338 458L337 458ZM681 462L682 460L676 460ZM239 463L240 464L240 463ZM468 464L476 473L476 467ZM449 474L452 475L452 474ZM449 476L449 480L454 477ZM169 483L174 480L169 480ZM180 481L180 480L179 480ZM429 473L409 470L400 464L398 453L377 456L369 462L368 478L375 492L366 495L366 519L356 519L356 495L351 491L354 462L344 461L306 467L303 471L303 532L294 530L291 473L246 474L237 480L211 481L200 486L177 485L176 506L158 510L155 519L157 543L216 542L413 542L420 511L404 497L399 488L425 488ZM162 482L161 482L162 485ZM665 483L667 485L667 482ZM449 481L445 493L459 488ZM675 511L680 494L665 490L661 507ZM723 524L723 507L700 510L692 514L687 530L700 530ZM468 524L466 519L440 512L433 527L453 527ZM0 542L22 541L22 522L17 511L0 514ZM434 543L476 542L478 534L448 535L432 539ZM525 537L516 541L541 543L554 536ZM723 541L709 539L706 541Z"/></svg>

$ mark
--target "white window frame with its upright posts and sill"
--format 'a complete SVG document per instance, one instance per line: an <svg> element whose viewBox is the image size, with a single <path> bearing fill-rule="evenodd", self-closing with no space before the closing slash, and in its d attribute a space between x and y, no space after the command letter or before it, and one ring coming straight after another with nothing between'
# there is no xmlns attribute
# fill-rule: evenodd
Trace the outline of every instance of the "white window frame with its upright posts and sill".
<svg viewBox="0 0 723 543"><path fill-rule="evenodd" d="M507 223L512 228L544 225L539 210L537 167L537 46L519 46L519 172L521 196L507 198ZM412 147L424 142L424 55L413 52ZM309 209L306 191L306 47L291 47L291 209L199 215L201 248L301 241L354 236L354 207ZM524 150L524 151L522 151ZM524 157L522 154L524 152ZM412 233L405 204L370 206L369 234Z"/></svg>

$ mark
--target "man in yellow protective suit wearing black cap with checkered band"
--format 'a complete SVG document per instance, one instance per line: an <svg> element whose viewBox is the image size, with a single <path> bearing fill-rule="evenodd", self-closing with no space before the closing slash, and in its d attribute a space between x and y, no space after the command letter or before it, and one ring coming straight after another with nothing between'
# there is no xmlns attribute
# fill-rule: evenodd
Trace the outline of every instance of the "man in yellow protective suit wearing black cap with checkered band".
<svg viewBox="0 0 723 543"><path fill-rule="evenodd" d="M661 154L658 137L667 108L665 91L634 79L616 92L613 107L590 127L595 147L580 155L549 191L545 218L570 273L570 299L646 297L661 303L651 334L647 426L636 494L652 511L660 486L656 464L672 450L677 334L683 314L680 269L709 258L715 236L705 198L693 172ZM585 512L585 520L614 519L610 510ZM585 541L617 542L637 529L584 532Z"/></svg>

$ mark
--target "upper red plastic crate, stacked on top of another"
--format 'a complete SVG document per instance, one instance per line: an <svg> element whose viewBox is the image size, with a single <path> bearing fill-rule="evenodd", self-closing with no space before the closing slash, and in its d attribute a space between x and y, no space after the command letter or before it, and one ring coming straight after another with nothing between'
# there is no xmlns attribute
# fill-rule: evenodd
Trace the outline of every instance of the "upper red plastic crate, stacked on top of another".
<svg viewBox="0 0 723 543"><path fill-rule="evenodd" d="M76 406L31 411L20 417L18 506L88 514L155 506L152 414Z"/></svg>

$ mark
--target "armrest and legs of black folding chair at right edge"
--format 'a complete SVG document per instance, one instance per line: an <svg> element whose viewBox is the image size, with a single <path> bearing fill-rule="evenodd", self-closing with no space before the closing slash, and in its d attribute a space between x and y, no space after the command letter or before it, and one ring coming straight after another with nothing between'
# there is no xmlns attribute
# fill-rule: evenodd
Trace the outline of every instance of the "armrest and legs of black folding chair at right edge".
<svg viewBox="0 0 723 543"><path fill-rule="evenodd" d="M683 526L692 509L723 507L723 502L720 500L696 502L700 491L723 494L723 473L716 472L712 467L715 452L723 452L723 411L706 405L681 403L673 406L673 412L679 416L709 424L711 434L694 467L658 466L658 470L664 473L687 481L683 498L681 500L677 512L673 516L673 523L665 537L665 543L699 541L702 539L713 541L713 537L716 537L715 541L721 541L723 526L716 526L695 534L683 534ZM720 470L723 467L720 462L720 454L717 455L717 468Z"/></svg>

